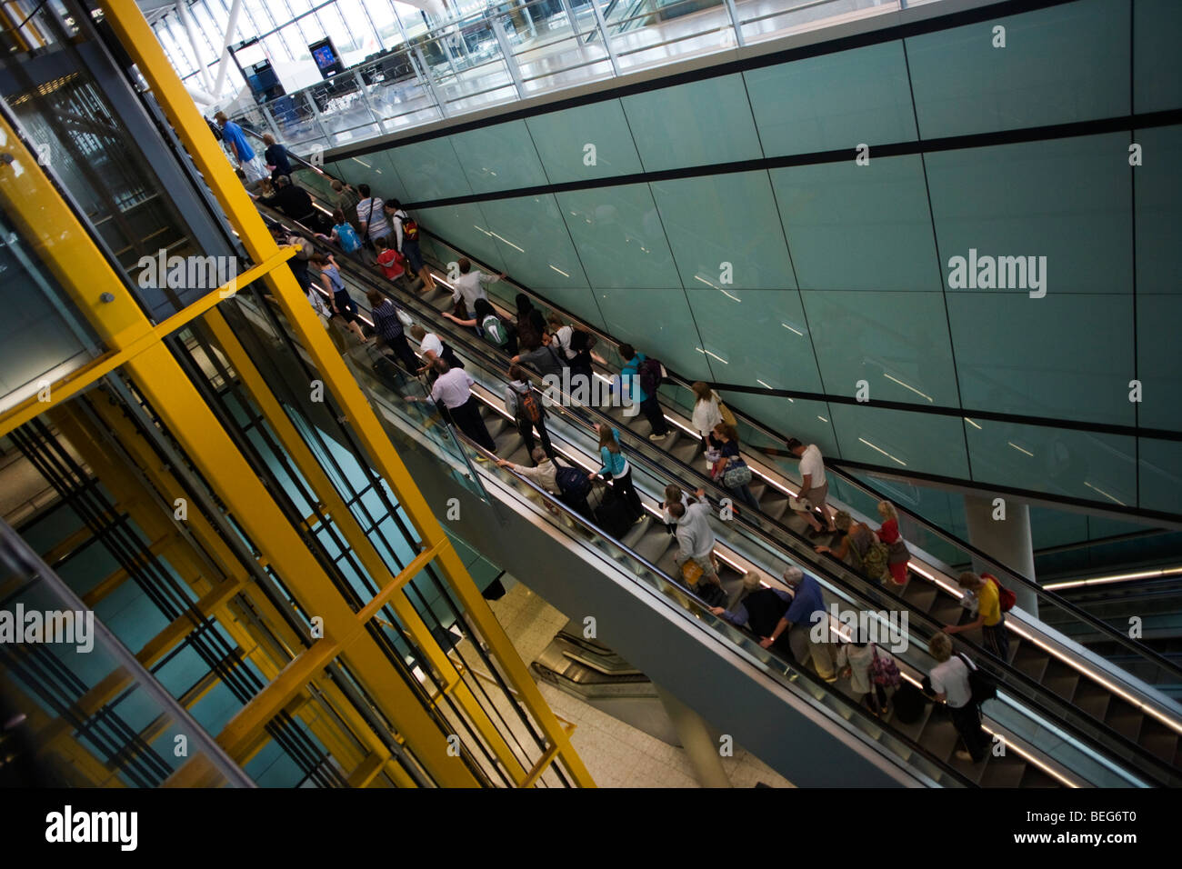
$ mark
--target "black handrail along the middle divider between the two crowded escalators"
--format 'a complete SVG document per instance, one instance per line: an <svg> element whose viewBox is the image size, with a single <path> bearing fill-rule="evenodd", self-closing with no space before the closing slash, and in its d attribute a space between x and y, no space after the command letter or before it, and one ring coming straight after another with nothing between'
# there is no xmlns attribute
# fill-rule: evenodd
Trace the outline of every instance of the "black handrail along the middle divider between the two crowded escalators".
<svg viewBox="0 0 1182 869"><path fill-rule="evenodd" d="M319 242L318 240L314 240L314 239L313 239L313 244L318 245L320 247L324 247L325 249L331 249L330 247L323 245L323 242ZM368 270L365 270L363 266L358 265L357 262L355 262L352 260L345 260L342 265L344 266L346 273L350 274L350 277L352 277L355 279L363 278L364 279L363 283L366 284L366 285L370 285L370 286L375 286L375 287L382 287L383 286L382 283L377 279L376 275L371 274ZM443 325L443 322L442 322L440 312L436 309L431 307L430 304L427 303L426 300L411 296L411 297L409 297L409 299L402 300L402 304L403 304L403 306L405 306L405 307L408 307L410 310L414 310L415 313L417 313L420 318L423 318L426 320L431 322L433 323L433 328L437 328L437 329L444 330L449 335L449 338L452 339L452 342L454 343L454 345L457 349L461 349L465 356L474 358L474 359L480 359L480 361L482 361L482 363L486 367L489 367L493 370L499 370L500 368L504 368L504 361L493 359L488 355L487 348L483 348L479 342L472 341L472 336L470 335L468 335L468 333L461 333L462 330L452 330L449 326ZM586 413L593 414L595 416L602 419L603 421L608 422L609 424L612 424L612 426L616 424L615 421L610 420L604 414L602 414L597 408L593 408L593 407L578 408L577 409L578 411L576 411L574 408L565 408L565 409L566 409L567 413L570 413L572 416L576 416L576 417L582 417L583 416L583 411L586 411ZM580 421L584 422L584 423L586 423L586 420L580 420ZM651 445L648 445L645 441L643 441L643 439L637 440L637 445L639 445L643 448L641 450L636 450L638 453L638 455L643 460L643 461L637 462L637 463L641 463L642 466L647 467L651 462L654 462L654 459L650 458L647 454L647 452L643 452L643 450L644 449L655 449L655 447L651 447ZM691 472L694 474L699 474L700 475L700 472L697 472L696 469L687 466L684 462L680 461L676 456L668 455L668 454L662 454L658 459L661 461L667 462L667 463L668 462L674 462L674 463L681 466L682 468L686 468L687 471L689 471L689 472ZM716 485L715 481L710 480L709 478L704 478L704 480L713 488L717 489L717 485ZM740 517L740 518L742 519L742 517ZM765 521L772 523L774 525L779 525L779 530L782 531L785 534L791 536L792 538L800 538L799 533L797 533L792 528L788 528L787 526L782 526L781 524L779 524L777 520L772 519L771 517L766 517L766 515L761 514L761 518ZM745 525L745 527L748 528L748 532L753 532L753 534L759 540L761 540L762 543L765 543L766 545L769 545L773 549L779 549L781 546L781 544L779 544L774 539L768 538L767 533L762 528L760 528L758 525L755 525L753 520L746 519L746 520L743 520L742 524ZM833 568L823 568L819 564L819 562L821 560L819 558L816 559L816 560L807 560L807 558L808 558L807 550L811 550L811 544L807 544L807 546L806 546L806 553L805 553L806 562L810 564L810 568L813 571L816 571L816 572L825 576L830 582L832 582L836 585L840 586L855 601L858 601L859 603L864 604L865 599L869 598L871 601L871 603L873 603L875 605L881 607L882 605L881 596L889 596L890 598L892 598L892 601L888 601L888 604L891 604L891 603L894 603L894 604L902 604L909 611L914 612L917 616L917 618L918 618L918 621L921 623L927 624L929 627L934 627L936 630L939 630L939 628L941 627L934 620L931 620L927 614L917 612L915 610L911 610L910 604L905 599L903 599L900 595L897 595L897 594L895 594L892 591L889 591L886 589L883 589L881 586L875 586L872 584L866 584L865 581L862 577L858 577L856 573L852 573L852 571L850 571L849 568L846 568L844 565L844 563L836 562L836 559L832 559L834 562L834 566ZM800 553L794 553L794 556L797 558L799 558ZM830 559L826 559L826 560L830 560ZM853 575L855 578L856 578L856 581L859 584L855 585L853 583L851 583L851 581L837 576L833 572L833 570L837 569L837 568L839 568L845 573ZM866 588L862 588L860 586L862 584L865 584ZM868 591L869 591L869 594L868 594ZM1079 739L1084 745L1089 745L1093 751L1099 751L1099 752L1104 753L1105 750L1110 750L1110 746L1104 746L1102 742L1097 741L1096 737L1091 732L1087 731L1089 727L1091 727L1093 729L1100 729L1106 738L1110 738L1110 739L1115 740L1115 742L1117 745L1124 746L1124 748L1125 748L1126 752L1131 752L1136 758L1139 758L1142 763L1148 764L1151 769L1154 769L1156 771L1154 773L1155 776L1164 777L1167 780L1171 780L1171 779L1174 779L1174 778L1177 777L1177 771L1173 766L1170 766L1169 764L1162 761L1160 758L1150 754L1145 748L1143 748L1142 746L1137 745L1136 742L1126 739L1125 737L1121 735L1116 731L1112 731L1103 721L1099 721L1097 719L1085 719L1083 721L1077 721L1076 719L1069 718L1067 712L1065 712L1065 709L1070 711L1072 708L1072 705L1070 702L1067 702L1067 701L1058 698L1052 692L1050 692L1048 689L1046 689L1044 686L1041 686L1040 683L1035 682L1030 676L1027 676L1026 674L1024 674L1017 667L1013 667L1008 662L1000 661L1000 659L996 659L994 655L992 655L992 653L988 653L986 649L983 649L981 647L974 646L973 643L968 642L963 637L956 637L954 640L954 646L957 644L957 643L963 643L965 647L967 647L968 649L970 649L972 651L974 651L974 653L976 653L979 655L981 653L985 653L987 655L987 657L988 657L988 662L987 662L988 663L988 668L992 672L994 672L995 675L999 675L999 674L1002 675L1002 681L1006 685L1009 685L1012 688L1015 688L1015 689L1018 689L1018 688L1021 689L1021 690L1019 690L1015 694L1017 696L1022 698L1024 702L1030 703L1032 708L1035 708L1035 709L1040 711L1044 715L1047 715L1047 716L1050 716L1050 718L1059 721L1060 724L1065 724L1069 727L1069 729L1071 729L1073 732L1073 734L1076 735L1077 739ZM1086 676L1086 674L1084 674L1084 675ZM1048 700L1051 701L1050 705L1047 702ZM1080 732L1080 728L1084 729L1083 733ZM1121 760L1125 760L1125 758L1122 757ZM1138 767L1138 769L1141 769L1141 767ZM1143 769L1141 771L1144 772Z"/></svg>

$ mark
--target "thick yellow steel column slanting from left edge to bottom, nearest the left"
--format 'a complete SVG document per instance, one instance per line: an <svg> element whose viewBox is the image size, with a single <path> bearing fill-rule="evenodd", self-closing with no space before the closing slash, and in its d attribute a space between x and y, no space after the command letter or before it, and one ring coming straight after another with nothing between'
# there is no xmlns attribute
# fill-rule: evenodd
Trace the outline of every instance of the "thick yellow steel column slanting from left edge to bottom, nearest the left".
<svg viewBox="0 0 1182 869"><path fill-rule="evenodd" d="M134 4L128 6L134 8ZM356 615L287 523L279 505L221 428L168 348L158 339L150 343L143 341L154 333L148 318L57 194L37 160L2 118L0 144L12 156L8 164L0 167L0 199L20 235L52 271L110 349L118 352L136 348L135 355L124 365L136 387L229 506L246 533L267 553L271 564L305 609L324 618L324 641L337 650L344 650L337 644L336 636L338 633L349 635L351 643L346 657L358 680L428 772L444 786L479 786L462 759L448 753L446 734L420 705L376 641L364 631L358 635L352 630ZM275 255L278 248L268 253L271 257L260 260L281 262L281 258ZM290 271L280 271L294 286ZM311 313L306 301L304 307ZM301 654L306 651L310 649ZM261 707L255 707L255 711L259 709ZM241 726L241 721L238 724Z"/></svg>

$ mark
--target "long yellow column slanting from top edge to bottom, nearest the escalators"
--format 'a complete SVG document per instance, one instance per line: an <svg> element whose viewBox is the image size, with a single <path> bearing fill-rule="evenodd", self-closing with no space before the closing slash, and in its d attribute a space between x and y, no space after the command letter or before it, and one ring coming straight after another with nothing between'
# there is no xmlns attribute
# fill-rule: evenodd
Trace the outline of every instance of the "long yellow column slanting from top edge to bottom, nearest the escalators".
<svg viewBox="0 0 1182 869"><path fill-rule="evenodd" d="M247 195L238 176L230 169L225 154L213 138L193 98L184 90L173 70L156 35L143 13L130 0L99 0L99 6L110 21L124 48L136 61L141 74L151 86L156 102L163 109L177 136L184 143L194 163L201 170L214 196L226 212L230 225L255 261L264 261L277 251L274 239L267 232L253 201ZM311 355L325 384L336 396L342 410L368 450L375 467L394 488L398 501L407 511L428 547L441 546L439 562L441 572L455 590L472 621L480 629L493 655L505 667L509 681L518 688L522 702L541 727L551 746L557 748L552 757L560 757L576 783L593 786L578 753L550 706L530 676L525 663L496 621L488 603L481 597L475 583L459 555L450 546L443 528L427 505L418 487L390 443L381 422L370 407L313 313L294 277L280 270L266 275L265 281L273 290L296 337Z"/></svg>

